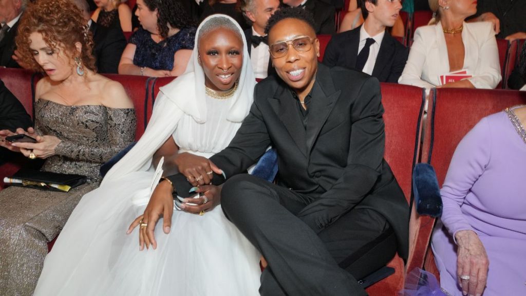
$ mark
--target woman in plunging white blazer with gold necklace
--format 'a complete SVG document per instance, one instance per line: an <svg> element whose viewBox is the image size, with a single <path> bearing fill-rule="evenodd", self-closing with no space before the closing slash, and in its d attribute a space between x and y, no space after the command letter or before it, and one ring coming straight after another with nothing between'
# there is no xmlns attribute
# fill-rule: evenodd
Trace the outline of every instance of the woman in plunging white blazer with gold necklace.
<svg viewBox="0 0 526 296"><path fill-rule="evenodd" d="M477 12L473 0L429 0L434 25L417 28L409 58L398 82L424 88L495 88L501 81L493 25L466 23ZM472 77L440 83L440 75L466 70Z"/></svg>

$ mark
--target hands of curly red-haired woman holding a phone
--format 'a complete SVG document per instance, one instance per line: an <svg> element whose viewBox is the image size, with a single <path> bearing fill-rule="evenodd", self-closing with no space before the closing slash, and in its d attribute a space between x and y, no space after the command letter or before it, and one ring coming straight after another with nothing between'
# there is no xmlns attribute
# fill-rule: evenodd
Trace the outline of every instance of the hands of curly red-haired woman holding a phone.
<svg viewBox="0 0 526 296"><path fill-rule="evenodd" d="M7 136L13 136L17 134L26 134L30 137L33 137L37 142L36 143L27 143L27 142L16 142L16 143L10 143L5 141L5 137ZM14 151L14 152L20 152L24 154L24 156L29 157L29 154L33 152L36 157L41 159L46 159L49 156L52 156L55 154L55 148L60 143L60 139L58 139L56 136L39 136L36 134L33 127L29 127L27 131L24 131L22 128L16 129L16 132L13 133L9 130L2 130L0 131L0 146L5 147L8 150Z"/></svg>

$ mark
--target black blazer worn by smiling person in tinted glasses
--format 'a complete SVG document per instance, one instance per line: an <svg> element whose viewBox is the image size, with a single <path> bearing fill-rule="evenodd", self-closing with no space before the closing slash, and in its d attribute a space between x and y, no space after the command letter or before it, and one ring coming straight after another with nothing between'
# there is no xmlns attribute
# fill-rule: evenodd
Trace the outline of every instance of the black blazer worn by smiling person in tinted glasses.
<svg viewBox="0 0 526 296"><path fill-rule="evenodd" d="M409 205L383 160L378 80L318 65L307 129L290 88L269 76L256 85L254 104L232 142L210 160L230 177L256 163L272 145L278 184L315 199L298 214L313 230L321 231L353 208L374 209L389 221L399 255L407 259Z"/></svg>

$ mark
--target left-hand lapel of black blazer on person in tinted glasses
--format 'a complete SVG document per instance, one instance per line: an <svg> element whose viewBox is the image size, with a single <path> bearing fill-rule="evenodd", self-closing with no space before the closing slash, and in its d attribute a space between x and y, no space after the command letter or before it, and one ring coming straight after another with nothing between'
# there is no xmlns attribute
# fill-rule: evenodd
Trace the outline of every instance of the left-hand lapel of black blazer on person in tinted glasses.
<svg viewBox="0 0 526 296"><path fill-rule="evenodd" d="M278 90L274 94L274 98L269 101L276 114L278 114L279 119L285 125L292 140L294 140L298 146L298 149L303 155L307 156L305 127L301 122L298 113L298 105L292 96L290 89L281 82L280 87L278 87Z"/></svg>

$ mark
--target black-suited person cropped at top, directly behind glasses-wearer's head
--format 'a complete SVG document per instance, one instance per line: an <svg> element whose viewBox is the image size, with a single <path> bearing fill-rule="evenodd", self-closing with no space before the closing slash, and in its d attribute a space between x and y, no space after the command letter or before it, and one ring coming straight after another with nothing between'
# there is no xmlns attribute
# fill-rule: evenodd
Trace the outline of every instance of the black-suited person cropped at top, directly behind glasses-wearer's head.
<svg viewBox="0 0 526 296"><path fill-rule="evenodd" d="M314 17L316 34L334 34L336 32L334 6L321 0L283 0L290 7L302 7Z"/></svg>

